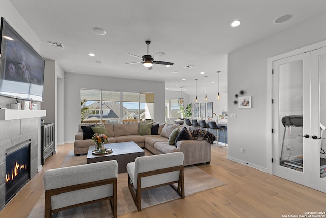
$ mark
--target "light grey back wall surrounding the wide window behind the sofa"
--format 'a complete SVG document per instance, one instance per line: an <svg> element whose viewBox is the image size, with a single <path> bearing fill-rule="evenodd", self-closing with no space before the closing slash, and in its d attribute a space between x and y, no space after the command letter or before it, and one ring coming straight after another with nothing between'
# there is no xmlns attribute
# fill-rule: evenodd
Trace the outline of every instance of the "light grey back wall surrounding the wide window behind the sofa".
<svg viewBox="0 0 326 218"><path fill-rule="evenodd" d="M80 124L80 89L154 93L154 120L165 122L165 82L65 73L65 143L73 142Z"/></svg>

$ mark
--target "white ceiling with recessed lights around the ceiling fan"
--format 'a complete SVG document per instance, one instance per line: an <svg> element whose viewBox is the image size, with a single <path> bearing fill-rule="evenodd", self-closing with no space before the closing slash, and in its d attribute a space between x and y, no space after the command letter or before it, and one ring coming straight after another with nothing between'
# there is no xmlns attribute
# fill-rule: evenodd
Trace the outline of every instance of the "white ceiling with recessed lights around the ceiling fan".
<svg viewBox="0 0 326 218"><path fill-rule="evenodd" d="M216 71L221 71L220 92L227 92L227 53L326 12L325 0L10 1L41 40L41 55L56 60L65 72L165 81L167 90L182 86L187 94L195 94L195 78L197 92L205 92L204 75L207 91L216 90ZM293 18L273 23L284 14ZM241 25L231 27L234 20ZM95 35L93 27L106 34ZM154 64L152 70L124 65L139 61L125 52L147 54L146 40L151 40L150 55L165 53L155 60L174 65ZM64 49L46 41L63 43Z"/></svg>

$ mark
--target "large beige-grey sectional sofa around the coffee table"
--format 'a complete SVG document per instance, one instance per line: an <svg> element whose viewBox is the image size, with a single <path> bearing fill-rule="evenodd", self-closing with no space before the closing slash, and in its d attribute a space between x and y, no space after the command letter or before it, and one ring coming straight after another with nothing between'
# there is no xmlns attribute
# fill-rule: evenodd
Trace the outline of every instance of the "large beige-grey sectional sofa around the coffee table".
<svg viewBox="0 0 326 218"><path fill-rule="evenodd" d="M181 151L184 154L184 165L209 163L211 161L211 144L206 140L182 140L175 145L169 145L168 140L171 132L181 126L175 124L160 123L158 135L139 135L139 123L131 124L104 124L110 135L108 143L133 141L141 148L146 148L153 154L165 154ZM191 136L190 136L191 137ZM94 145L92 139L83 140L83 130L79 125L75 135L74 154L86 154L89 146Z"/></svg>

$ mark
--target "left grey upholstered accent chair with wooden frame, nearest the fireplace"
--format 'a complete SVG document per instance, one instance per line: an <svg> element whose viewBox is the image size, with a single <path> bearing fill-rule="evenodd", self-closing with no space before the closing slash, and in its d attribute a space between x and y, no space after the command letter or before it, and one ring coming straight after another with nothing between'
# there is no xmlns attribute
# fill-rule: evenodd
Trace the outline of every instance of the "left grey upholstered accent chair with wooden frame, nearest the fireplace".
<svg viewBox="0 0 326 218"><path fill-rule="evenodd" d="M116 160L49 169L44 173L45 214L109 200L117 217Z"/></svg>

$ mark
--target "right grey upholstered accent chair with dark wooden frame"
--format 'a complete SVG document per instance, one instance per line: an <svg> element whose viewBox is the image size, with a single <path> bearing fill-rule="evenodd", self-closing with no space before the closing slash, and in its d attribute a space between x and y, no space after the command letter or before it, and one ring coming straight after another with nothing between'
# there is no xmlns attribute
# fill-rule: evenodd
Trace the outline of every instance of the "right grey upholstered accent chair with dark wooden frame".
<svg viewBox="0 0 326 218"><path fill-rule="evenodd" d="M184 198L182 152L137 157L127 164L128 187L138 211L141 211L141 191L178 183L175 188Z"/></svg>

